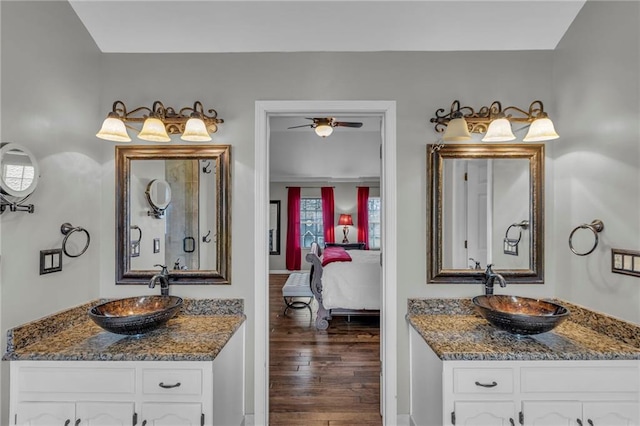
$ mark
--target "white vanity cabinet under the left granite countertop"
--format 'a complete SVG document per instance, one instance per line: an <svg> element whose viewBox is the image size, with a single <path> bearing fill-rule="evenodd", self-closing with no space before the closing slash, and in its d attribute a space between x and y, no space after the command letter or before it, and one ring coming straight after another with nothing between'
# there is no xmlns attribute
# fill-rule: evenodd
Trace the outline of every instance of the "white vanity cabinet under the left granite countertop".
<svg viewBox="0 0 640 426"><path fill-rule="evenodd" d="M217 426L244 419L244 325L213 361L11 361L24 426Z"/></svg>

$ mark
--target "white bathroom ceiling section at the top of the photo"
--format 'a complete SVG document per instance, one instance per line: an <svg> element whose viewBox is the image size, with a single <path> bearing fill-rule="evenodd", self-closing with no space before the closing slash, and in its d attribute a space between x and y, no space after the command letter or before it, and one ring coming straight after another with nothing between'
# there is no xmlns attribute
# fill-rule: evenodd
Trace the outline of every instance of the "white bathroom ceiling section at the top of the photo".
<svg viewBox="0 0 640 426"><path fill-rule="evenodd" d="M103 52L554 49L584 0L70 0Z"/></svg>

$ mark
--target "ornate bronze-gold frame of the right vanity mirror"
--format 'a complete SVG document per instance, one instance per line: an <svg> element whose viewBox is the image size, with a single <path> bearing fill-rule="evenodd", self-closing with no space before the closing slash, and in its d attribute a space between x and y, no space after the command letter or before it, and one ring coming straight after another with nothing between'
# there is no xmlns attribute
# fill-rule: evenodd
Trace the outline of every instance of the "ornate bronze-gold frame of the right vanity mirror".
<svg viewBox="0 0 640 426"><path fill-rule="evenodd" d="M508 284L544 283L544 144L427 145L427 284L477 284L482 270L442 267L442 181L445 159L529 160L530 269L494 269ZM483 265L486 267L486 265Z"/></svg>

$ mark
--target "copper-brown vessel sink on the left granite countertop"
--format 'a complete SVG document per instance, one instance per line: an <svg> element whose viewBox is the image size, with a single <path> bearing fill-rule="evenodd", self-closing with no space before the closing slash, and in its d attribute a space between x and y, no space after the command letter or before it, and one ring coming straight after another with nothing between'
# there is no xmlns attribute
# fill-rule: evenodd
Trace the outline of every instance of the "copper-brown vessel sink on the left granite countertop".
<svg viewBox="0 0 640 426"><path fill-rule="evenodd" d="M182 306L177 296L140 296L111 300L89 309L89 317L117 334L144 334L171 319Z"/></svg>

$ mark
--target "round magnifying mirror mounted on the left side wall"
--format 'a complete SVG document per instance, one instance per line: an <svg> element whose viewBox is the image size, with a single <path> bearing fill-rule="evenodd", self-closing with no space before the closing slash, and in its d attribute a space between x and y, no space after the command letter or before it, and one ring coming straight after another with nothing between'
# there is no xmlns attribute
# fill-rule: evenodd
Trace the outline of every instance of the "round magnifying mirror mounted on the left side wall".
<svg viewBox="0 0 640 426"><path fill-rule="evenodd" d="M11 211L33 213L33 204L24 201L35 191L40 175L38 163L31 152L12 142L0 144L0 212Z"/></svg>

